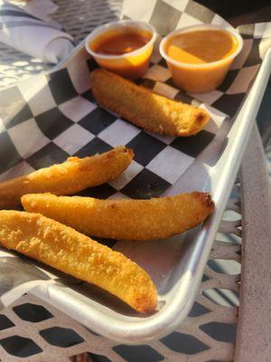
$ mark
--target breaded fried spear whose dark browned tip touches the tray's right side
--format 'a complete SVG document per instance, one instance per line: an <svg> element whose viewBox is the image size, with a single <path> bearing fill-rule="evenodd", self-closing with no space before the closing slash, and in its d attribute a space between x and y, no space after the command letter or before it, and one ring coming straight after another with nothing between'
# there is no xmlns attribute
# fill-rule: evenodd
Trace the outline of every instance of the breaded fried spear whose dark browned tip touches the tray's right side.
<svg viewBox="0 0 271 362"><path fill-rule="evenodd" d="M22 203L81 233L118 240L164 239L200 224L214 209L210 195L197 191L149 200L23 195Z"/></svg>

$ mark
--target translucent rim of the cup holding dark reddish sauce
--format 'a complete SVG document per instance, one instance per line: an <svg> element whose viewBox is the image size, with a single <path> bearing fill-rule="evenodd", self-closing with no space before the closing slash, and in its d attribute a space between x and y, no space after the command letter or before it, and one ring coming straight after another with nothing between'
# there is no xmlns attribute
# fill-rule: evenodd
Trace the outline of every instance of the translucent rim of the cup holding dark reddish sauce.
<svg viewBox="0 0 271 362"><path fill-rule="evenodd" d="M95 39L98 35L102 33L106 33L109 29L116 29L117 27L125 27L126 25L135 25L138 28L145 27L146 30L149 30L153 35L151 39L148 41L148 43L145 43L144 46L141 46L138 49L135 49L135 51L132 52L126 52L125 54L119 54L119 55L109 55L109 54L100 54L99 52L94 52L92 49L90 49L89 43L91 40ZM86 38L85 47L87 52L89 52L90 55L93 56L93 58L99 58L99 59L107 59L107 60L117 60L117 59L124 59L126 56L133 56L140 52L143 52L145 49L147 49L152 43L155 42L157 38L156 30L154 29L154 26L151 24L148 24L146 22L140 22L136 20L118 20L116 22L107 23L104 25L98 26L93 32L89 33L89 35Z"/></svg>

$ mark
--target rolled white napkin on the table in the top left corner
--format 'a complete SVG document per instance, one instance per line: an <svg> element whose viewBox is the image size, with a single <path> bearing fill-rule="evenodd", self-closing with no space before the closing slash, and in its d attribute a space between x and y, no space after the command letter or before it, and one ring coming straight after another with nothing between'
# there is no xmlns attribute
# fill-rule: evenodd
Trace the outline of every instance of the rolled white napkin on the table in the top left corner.
<svg viewBox="0 0 271 362"><path fill-rule="evenodd" d="M0 42L43 62L56 64L69 55L74 48L72 36L58 24L42 20L48 20L55 5L50 0L19 3L0 0Z"/></svg>

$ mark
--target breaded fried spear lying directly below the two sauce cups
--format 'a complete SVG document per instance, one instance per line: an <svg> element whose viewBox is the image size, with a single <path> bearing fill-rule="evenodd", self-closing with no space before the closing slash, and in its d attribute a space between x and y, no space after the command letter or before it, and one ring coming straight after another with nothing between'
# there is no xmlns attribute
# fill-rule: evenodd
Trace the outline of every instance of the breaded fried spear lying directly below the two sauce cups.
<svg viewBox="0 0 271 362"><path fill-rule="evenodd" d="M192 136L210 120L206 110L170 100L103 69L92 71L91 88L102 107L149 132Z"/></svg>

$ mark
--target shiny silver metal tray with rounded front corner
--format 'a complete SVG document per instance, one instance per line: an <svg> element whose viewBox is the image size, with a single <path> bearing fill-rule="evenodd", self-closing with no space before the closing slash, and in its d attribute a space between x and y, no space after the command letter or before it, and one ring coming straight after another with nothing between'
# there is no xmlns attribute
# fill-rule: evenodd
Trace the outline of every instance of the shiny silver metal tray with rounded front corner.
<svg viewBox="0 0 271 362"><path fill-rule="evenodd" d="M83 290L63 288L60 283L42 284L32 293L73 316L89 329L126 344L145 343L167 335L178 327L192 308L270 72L271 50L266 52L257 79L229 131L229 142L216 165L216 172L210 177L204 173L201 157L206 159L208 154L210 157L212 155L211 149L206 149L182 178L183 192L202 189L213 195L216 209L206 223L168 241L119 242L115 246L117 251L130 256L153 276L159 291L158 312L148 317L129 315L118 308L113 310L111 301L105 305L103 297L100 299L99 295L94 300L89 298L88 291L84 295ZM201 167L202 177L195 179L195 168L198 168L198 173ZM175 188L180 191L180 185L175 184L167 195L173 195ZM93 298L93 293L91 295Z"/></svg>

